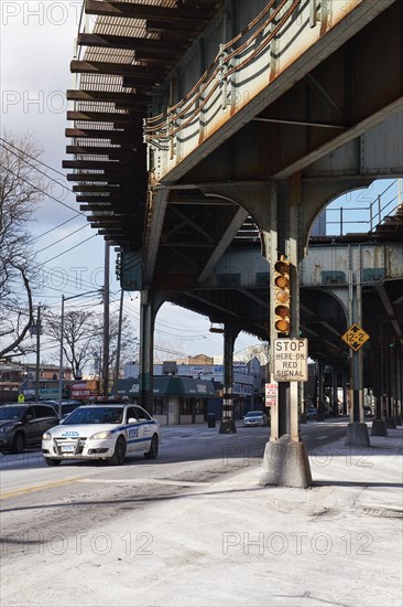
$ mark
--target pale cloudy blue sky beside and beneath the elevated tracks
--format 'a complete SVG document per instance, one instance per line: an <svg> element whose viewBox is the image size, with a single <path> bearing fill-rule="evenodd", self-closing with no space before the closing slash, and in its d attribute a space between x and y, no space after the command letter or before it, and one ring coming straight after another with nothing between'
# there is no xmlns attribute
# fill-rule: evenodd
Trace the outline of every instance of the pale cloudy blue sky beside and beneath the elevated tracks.
<svg viewBox="0 0 403 607"><path fill-rule="evenodd" d="M75 88L69 63L75 52L81 0L2 0L0 11L0 130L7 129L15 136L33 134L43 148L42 160L48 167L44 167L44 171L54 180L47 184L52 184L52 198L43 201L30 230L36 238L37 263L43 276L35 303L57 308L62 294L69 297L96 290L104 283L104 241L78 213L72 184L63 177L66 171L62 169L68 143L65 92ZM372 187L361 193L361 199L363 202L374 200L378 191L384 189L385 182ZM352 196L342 203L344 206L353 203ZM113 310L119 305L113 253L110 263ZM99 301L95 297L91 303ZM70 303L77 306L81 300L77 298ZM88 306L88 299L83 300L83 305ZM124 311L139 336L139 294L126 294ZM160 347L189 355L222 353L222 337L209 333L207 318L164 305L156 320L155 342ZM241 334L236 351L241 353L253 343L259 342ZM173 358L162 350L159 354L167 360Z"/></svg>

